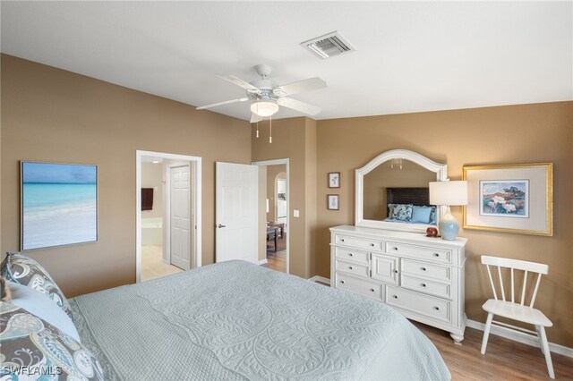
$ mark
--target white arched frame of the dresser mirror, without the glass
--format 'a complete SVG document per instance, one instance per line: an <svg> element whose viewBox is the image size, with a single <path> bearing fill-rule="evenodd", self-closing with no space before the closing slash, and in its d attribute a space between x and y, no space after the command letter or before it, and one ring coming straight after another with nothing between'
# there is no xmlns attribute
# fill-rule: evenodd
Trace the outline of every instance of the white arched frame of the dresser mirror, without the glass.
<svg viewBox="0 0 573 381"><path fill-rule="evenodd" d="M398 230L401 232L425 233L428 227L438 227L440 216L443 216L445 207L438 207L436 211L436 225L431 224L399 224L386 221L367 220L363 218L363 188L364 175L369 174L378 165L386 163L393 158L410 160L417 165L422 165L429 171L436 174L436 181L448 181L448 165L436 163L427 157L408 151L407 149L392 149L374 157L368 164L355 170L355 225L362 227L373 227L378 229Z"/></svg>

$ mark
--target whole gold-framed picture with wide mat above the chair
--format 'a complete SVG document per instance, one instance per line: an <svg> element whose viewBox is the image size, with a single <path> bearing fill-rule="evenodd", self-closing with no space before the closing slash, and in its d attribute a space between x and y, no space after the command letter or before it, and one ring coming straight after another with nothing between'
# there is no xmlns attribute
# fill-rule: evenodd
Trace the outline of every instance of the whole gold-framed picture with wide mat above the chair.
<svg viewBox="0 0 573 381"><path fill-rule="evenodd" d="M553 235L552 163L465 165L464 229Z"/></svg>

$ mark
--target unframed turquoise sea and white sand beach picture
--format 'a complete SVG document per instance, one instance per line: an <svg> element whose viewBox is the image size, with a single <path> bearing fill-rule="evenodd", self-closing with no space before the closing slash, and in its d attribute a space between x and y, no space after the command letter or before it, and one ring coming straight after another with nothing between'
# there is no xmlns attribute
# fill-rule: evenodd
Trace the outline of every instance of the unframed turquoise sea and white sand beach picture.
<svg viewBox="0 0 573 381"><path fill-rule="evenodd" d="M21 250L98 241L98 167L21 162Z"/></svg>

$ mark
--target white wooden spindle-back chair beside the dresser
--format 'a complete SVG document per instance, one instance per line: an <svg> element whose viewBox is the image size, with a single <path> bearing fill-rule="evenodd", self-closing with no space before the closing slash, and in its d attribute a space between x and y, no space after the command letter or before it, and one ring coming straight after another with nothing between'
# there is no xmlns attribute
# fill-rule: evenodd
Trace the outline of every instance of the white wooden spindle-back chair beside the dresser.
<svg viewBox="0 0 573 381"><path fill-rule="evenodd" d="M539 283L541 282L541 276L547 275L549 272L549 266L542 263L526 262L524 260L509 259L509 258L496 258L482 256L482 264L487 267L487 274L490 276L490 283L492 284L493 298L486 301L483 304L483 309L487 312L487 321L485 322L485 329L483 330L483 342L482 342L482 354L485 354L485 348L487 347L487 339L490 335L490 329L492 325L494 326L504 326L509 329L517 330L526 334L535 335L539 339L540 348L542 353L545 355L545 362L547 363L547 370L549 372L549 377L555 378L553 372L552 364L552 354L549 351L549 344L547 343L547 336L545 335L545 327L553 326L550 319L543 315L543 312L539 309L534 309L535 297L537 296L537 291L539 290ZM493 283L492 271L490 266L498 267L498 276L500 279L500 293L501 300L498 299L498 293L496 292L495 284ZM506 301L505 298L505 288L503 284L503 279L501 277L501 267L509 268L511 275L511 301ZM517 270L517 271L516 271ZM517 303L515 301L515 277L514 273L523 273L523 286L521 289L521 301ZM535 289L527 305L526 301L526 285L527 285L527 274L534 273L537 275ZM534 275L535 276L535 275ZM511 326L506 323L501 323L499 321L494 321L493 316L498 315L504 318L510 318L513 320L521 321L527 324L535 326L535 332L530 331L525 328L518 326Z"/></svg>

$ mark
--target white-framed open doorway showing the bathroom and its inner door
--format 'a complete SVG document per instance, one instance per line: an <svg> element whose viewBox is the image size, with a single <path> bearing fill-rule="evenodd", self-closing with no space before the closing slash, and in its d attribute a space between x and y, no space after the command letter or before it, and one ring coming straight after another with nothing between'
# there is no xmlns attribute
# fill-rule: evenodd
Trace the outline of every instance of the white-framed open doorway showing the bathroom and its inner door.
<svg viewBox="0 0 573 381"><path fill-rule="evenodd" d="M136 161L136 281L200 267L201 157L137 151Z"/></svg>

